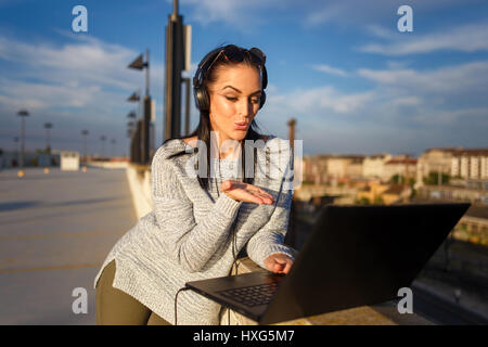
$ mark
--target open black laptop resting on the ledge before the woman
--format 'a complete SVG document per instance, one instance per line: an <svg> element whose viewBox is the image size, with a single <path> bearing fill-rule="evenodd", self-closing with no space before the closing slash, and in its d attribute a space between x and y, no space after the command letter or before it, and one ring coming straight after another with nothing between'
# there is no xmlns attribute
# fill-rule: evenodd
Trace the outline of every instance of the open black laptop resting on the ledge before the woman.
<svg viewBox="0 0 488 347"><path fill-rule="evenodd" d="M260 324L388 301L410 286L468 207L329 205L287 275L252 272L187 287Z"/></svg>

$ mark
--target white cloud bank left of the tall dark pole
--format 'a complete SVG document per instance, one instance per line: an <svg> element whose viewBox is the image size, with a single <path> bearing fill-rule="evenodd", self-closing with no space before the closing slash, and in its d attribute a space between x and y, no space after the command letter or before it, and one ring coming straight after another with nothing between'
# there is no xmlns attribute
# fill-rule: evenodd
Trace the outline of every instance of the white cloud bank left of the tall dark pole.
<svg viewBox="0 0 488 347"><path fill-rule="evenodd" d="M93 37L65 35L74 40L63 46L30 44L0 36L0 59L18 66L3 72L0 79L0 93L10 107L25 100L34 107L120 106L132 91L142 88L144 75L127 68L139 52ZM160 91L163 65L152 63L150 72L158 77L151 79L152 90Z"/></svg>

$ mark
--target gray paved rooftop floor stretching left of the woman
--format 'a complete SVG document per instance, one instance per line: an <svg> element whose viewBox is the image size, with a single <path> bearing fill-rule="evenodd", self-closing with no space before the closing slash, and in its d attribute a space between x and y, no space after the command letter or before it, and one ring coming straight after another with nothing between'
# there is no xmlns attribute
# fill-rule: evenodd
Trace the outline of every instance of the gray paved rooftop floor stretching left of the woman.
<svg viewBox="0 0 488 347"><path fill-rule="evenodd" d="M136 222L125 169L0 171L0 324L95 324L93 279ZM88 293L75 314L73 290Z"/></svg>

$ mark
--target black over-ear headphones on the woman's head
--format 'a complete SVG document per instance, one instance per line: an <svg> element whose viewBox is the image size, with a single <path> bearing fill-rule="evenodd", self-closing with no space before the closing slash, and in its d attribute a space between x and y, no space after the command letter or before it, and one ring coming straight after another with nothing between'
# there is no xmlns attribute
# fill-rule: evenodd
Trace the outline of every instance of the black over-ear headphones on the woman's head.
<svg viewBox="0 0 488 347"><path fill-rule="evenodd" d="M196 69L195 76L193 77L193 95L195 98L195 105L196 108L200 111L208 111L210 108L210 98L208 95L207 88L204 85L204 79L206 78L206 74L208 72L208 68L214 63L215 59L217 59L217 55L223 51L224 48L218 48L204 56L202 59L202 62L198 64L198 68ZM265 62L259 65L261 67L262 73L262 90L260 95L260 102L259 102L259 110L265 105L266 102L266 92L265 88L268 86L268 72L266 70Z"/></svg>

